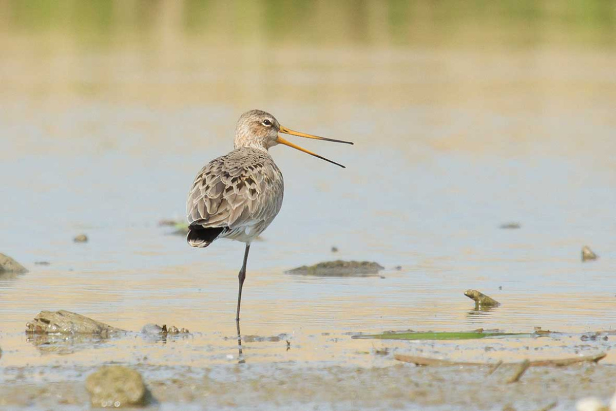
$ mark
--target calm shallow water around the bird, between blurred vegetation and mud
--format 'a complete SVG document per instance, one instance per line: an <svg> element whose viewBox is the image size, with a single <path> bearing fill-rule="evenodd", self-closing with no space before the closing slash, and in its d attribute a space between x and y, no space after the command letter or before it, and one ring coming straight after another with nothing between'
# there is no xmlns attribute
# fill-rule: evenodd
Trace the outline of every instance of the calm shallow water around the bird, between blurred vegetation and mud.
<svg viewBox="0 0 616 411"><path fill-rule="evenodd" d="M26 364L62 365L51 380L79 379L71 369L101 361L237 364L243 245L197 250L158 221L183 218L193 177L232 149L235 121L249 108L355 145L299 142L346 169L272 149L285 202L251 248L241 331L285 336L245 343L246 363L394 364L374 353L381 347L458 360L612 348L611 340L583 344L578 334L610 330L616 320L613 49L221 47L178 33L154 44L79 41L16 31L0 42L0 252L30 269L0 277L0 381ZM521 229L499 228L507 222ZM89 242L73 243L82 232ZM598 261L580 261L586 244ZM284 273L330 259L386 269L383 278ZM477 312L467 288L502 305ZM193 334L35 346L25 323L46 309L133 332L158 323ZM351 339L536 326L571 334L488 343Z"/></svg>

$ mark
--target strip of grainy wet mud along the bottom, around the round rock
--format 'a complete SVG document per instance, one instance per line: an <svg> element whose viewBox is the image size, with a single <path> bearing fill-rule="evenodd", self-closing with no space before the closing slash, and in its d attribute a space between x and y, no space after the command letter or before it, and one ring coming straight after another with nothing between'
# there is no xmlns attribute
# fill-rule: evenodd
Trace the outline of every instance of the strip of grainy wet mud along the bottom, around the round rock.
<svg viewBox="0 0 616 411"><path fill-rule="evenodd" d="M284 409L291 405L334 409L509 409L535 410L556 402L575 409L590 394L607 401L616 366L583 364L529 369L514 384L511 370L487 375L489 367L298 366L294 363L217 367L132 365L144 375L155 401L149 406L186 404L205 409ZM2 370L0 406L40 409L86 407L84 380L95 367L7 367ZM62 378L60 375L70 378ZM46 382L49 380L49 382ZM256 407L256 408L255 408Z"/></svg>

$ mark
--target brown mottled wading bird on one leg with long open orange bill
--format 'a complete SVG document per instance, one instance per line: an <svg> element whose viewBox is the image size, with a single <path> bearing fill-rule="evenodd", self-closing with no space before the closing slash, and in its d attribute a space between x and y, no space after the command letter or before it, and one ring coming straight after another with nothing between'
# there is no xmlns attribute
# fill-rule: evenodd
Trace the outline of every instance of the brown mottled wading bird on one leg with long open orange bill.
<svg viewBox="0 0 616 411"><path fill-rule="evenodd" d="M217 238L246 243L244 262L238 279L237 315L240 320L241 288L246 278L250 243L274 220L280 206L284 184L282 173L267 150L277 144L288 145L314 157L329 161L278 135L279 132L309 139L353 144L326 139L283 127L270 113L251 110L240 116L235 128L234 150L214 158L199 171L186 204L187 241L193 247L206 247Z"/></svg>

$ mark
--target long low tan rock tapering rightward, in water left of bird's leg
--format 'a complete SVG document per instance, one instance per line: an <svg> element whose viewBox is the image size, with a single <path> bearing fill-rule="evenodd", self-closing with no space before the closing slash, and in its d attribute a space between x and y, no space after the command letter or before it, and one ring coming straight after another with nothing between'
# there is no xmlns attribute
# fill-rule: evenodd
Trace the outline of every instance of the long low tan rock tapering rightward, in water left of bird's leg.
<svg viewBox="0 0 616 411"><path fill-rule="evenodd" d="M41 311L33 322L26 323L26 333L30 334L89 334L107 338L124 330L111 327L70 311Z"/></svg>

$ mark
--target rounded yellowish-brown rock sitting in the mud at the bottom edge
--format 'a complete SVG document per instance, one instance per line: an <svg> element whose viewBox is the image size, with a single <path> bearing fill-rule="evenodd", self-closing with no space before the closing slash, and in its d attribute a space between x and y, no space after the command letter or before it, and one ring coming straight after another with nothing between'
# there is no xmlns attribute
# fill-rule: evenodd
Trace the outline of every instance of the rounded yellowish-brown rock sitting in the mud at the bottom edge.
<svg viewBox="0 0 616 411"><path fill-rule="evenodd" d="M86 378L93 407L144 405L147 389L141 374L123 365L103 365Z"/></svg>

